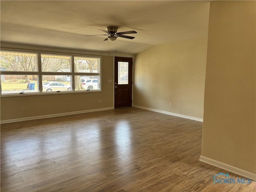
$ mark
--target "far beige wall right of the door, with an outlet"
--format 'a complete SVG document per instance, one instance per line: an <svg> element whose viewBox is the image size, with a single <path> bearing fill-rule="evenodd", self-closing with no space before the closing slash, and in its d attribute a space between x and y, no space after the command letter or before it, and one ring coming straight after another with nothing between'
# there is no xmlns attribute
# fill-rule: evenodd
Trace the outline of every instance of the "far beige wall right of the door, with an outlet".
<svg viewBox="0 0 256 192"><path fill-rule="evenodd" d="M137 54L133 104L203 118L206 50L205 37L158 45Z"/></svg>

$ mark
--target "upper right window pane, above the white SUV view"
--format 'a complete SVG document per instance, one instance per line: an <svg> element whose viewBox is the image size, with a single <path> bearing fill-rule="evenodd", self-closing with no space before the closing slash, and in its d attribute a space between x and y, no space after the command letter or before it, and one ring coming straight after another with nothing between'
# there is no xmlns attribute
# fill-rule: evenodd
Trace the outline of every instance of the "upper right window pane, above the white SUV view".
<svg viewBox="0 0 256 192"><path fill-rule="evenodd" d="M99 58L74 57L75 72L99 73Z"/></svg>

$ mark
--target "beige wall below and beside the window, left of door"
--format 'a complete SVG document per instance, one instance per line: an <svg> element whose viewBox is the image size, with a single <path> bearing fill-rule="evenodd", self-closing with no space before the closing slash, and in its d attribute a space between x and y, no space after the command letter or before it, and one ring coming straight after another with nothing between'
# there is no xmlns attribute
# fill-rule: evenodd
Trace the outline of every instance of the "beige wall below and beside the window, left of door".
<svg viewBox="0 0 256 192"><path fill-rule="evenodd" d="M113 56L102 56L101 73L102 92L2 97L1 120L113 107Z"/></svg>

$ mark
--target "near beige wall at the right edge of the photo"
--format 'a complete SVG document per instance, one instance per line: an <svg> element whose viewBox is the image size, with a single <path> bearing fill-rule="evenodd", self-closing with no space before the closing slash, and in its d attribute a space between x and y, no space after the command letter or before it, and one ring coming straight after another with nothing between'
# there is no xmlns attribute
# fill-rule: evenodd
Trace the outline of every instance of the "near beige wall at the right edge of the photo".
<svg viewBox="0 0 256 192"><path fill-rule="evenodd" d="M256 2L212 1L202 156L256 173Z"/></svg>

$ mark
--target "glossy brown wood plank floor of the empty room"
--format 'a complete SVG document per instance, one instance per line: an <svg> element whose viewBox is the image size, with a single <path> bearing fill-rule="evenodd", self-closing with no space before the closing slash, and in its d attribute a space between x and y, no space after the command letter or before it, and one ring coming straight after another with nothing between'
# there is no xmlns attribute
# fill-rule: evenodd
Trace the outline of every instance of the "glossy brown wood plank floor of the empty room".
<svg viewBox="0 0 256 192"><path fill-rule="evenodd" d="M253 192L213 184L202 122L137 108L1 125L1 192ZM231 177L240 178L230 173Z"/></svg>

